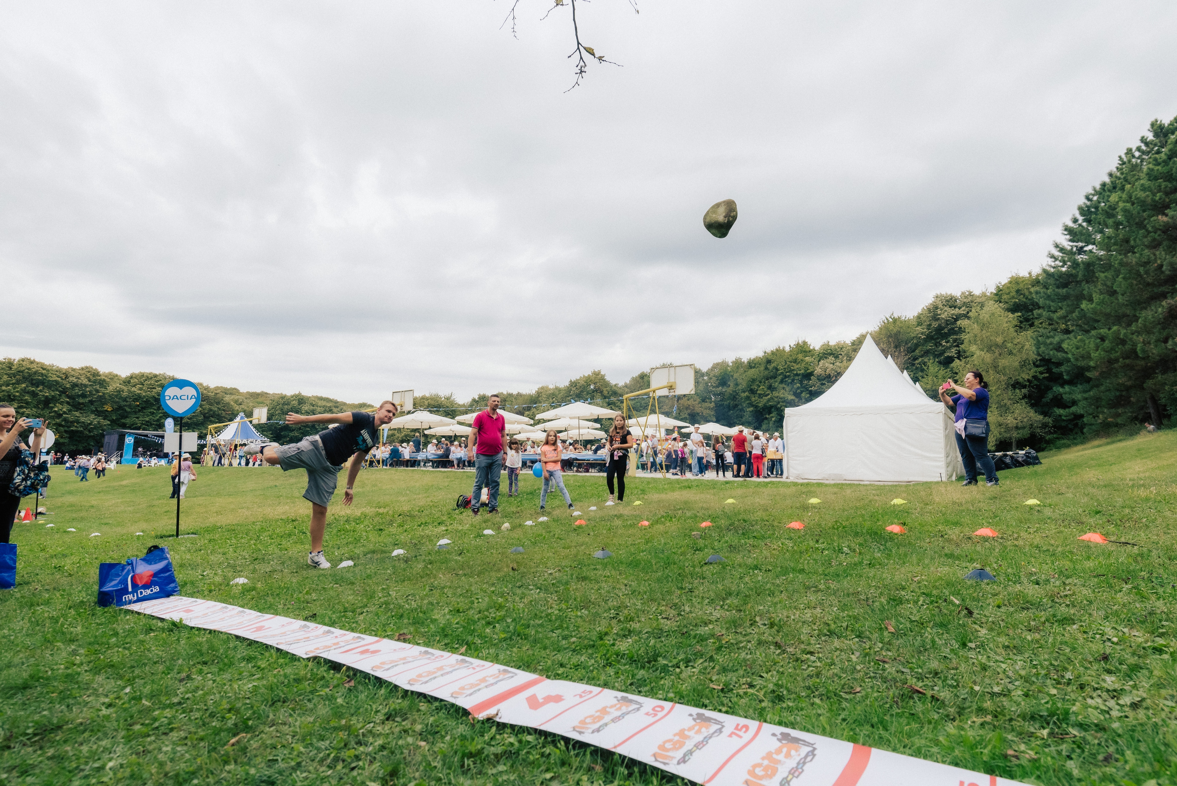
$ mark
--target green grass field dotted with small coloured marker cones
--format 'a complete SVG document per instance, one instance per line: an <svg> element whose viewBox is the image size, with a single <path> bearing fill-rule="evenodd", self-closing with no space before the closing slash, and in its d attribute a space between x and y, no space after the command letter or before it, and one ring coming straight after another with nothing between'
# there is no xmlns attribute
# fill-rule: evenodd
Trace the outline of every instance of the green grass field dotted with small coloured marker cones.
<svg viewBox="0 0 1177 786"><path fill-rule="evenodd" d="M331 571L305 562L302 473L201 469L184 502L199 537L174 540L166 469L59 469L55 526L15 527L18 586L0 594L0 784L677 780L327 661L98 608L98 564L152 544L189 597L1033 784L1177 784L1177 434L1043 459L998 488L638 479L607 508L603 478L571 478L584 527L558 498L521 526L539 515L531 475L473 519L453 512L468 473L372 469L353 507L332 507L327 557L355 566ZM986 526L1000 537L970 535ZM1139 545L1077 540L1090 531ZM603 546L614 557L593 559ZM978 566L998 580L962 579Z"/></svg>

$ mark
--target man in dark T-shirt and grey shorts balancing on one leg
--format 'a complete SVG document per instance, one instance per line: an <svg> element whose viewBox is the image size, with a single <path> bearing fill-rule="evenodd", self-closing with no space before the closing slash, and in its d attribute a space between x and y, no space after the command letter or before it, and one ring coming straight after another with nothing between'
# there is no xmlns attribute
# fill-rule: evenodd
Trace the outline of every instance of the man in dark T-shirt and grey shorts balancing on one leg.
<svg viewBox="0 0 1177 786"><path fill-rule="evenodd" d="M304 498L311 502L311 552L306 561L313 567L331 567L322 555L322 533L327 528L327 505L339 484L339 471L344 461L347 464L347 488L344 491L344 505L352 504L352 486L355 475L364 466L364 458L378 444L377 432L380 426L387 426L397 417L397 405L381 401L374 413L344 412L338 415L297 415L286 413L286 422L295 424L338 424L334 428L321 431L313 437L302 438L294 445L251 445L246 454L260 453L266 464L277 464L282 472L288 469L306 469L306 493Z"/></svg>

